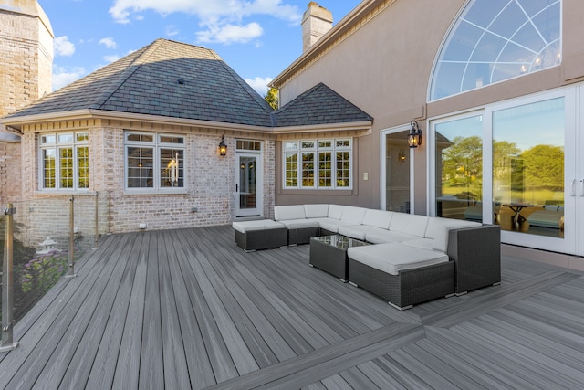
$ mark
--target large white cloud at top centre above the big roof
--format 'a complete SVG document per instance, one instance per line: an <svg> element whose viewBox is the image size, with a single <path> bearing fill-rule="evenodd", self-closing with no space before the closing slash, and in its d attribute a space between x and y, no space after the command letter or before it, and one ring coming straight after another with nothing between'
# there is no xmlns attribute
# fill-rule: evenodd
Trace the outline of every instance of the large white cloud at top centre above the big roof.
<svg viewBox="0 0 584 390"><path fill-rule="evenodd" d="M114 0L110 15L118 23L143 18L142 13L153 11L162 16L183 13L197 16L203 30L196 33L201 42L247 43L263 34L255 21L242 23L248 17L267 15L298 25L302 13L296 5L282 0Z"/></svg>

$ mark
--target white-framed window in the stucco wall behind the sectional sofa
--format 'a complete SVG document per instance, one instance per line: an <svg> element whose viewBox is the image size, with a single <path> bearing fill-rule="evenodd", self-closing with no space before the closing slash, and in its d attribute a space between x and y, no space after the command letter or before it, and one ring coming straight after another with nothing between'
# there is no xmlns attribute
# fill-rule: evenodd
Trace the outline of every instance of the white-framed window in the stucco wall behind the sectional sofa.
<svg viewBox="0 0 584 390"><path fill-rule="evenodd" d="M284 142L284 188L350 189L350 139Z"/></svg>

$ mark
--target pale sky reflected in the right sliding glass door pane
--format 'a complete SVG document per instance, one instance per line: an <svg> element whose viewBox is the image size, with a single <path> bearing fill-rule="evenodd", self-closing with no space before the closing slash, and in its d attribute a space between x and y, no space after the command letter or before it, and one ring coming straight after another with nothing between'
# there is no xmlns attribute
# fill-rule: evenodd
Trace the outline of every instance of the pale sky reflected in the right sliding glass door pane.
<svg viewBox="0 0 584 390"><path fill-rule="evenodd" d="M537 145L564 146L564 99L539 101L493 113L493 140L515 142L522 151Z"/></svg>

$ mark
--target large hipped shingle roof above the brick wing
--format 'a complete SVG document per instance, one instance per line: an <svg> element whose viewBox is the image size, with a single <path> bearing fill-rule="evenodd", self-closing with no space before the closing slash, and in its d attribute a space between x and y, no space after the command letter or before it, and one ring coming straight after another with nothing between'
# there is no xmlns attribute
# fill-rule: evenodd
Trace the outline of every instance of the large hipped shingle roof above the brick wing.
<svg viewBox="0 0 584 390"><path fill-rule="evenodd" d="M157 39L6 118L84 109L268 127L273 111L213 50Z"/></svg>

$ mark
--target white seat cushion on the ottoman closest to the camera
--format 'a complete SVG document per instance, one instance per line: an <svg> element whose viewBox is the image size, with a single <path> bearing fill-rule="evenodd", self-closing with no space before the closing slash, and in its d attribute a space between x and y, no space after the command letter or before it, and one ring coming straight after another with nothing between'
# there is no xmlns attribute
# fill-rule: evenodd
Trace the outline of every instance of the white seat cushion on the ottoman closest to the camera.
<svg viewBox="0 0 584 390"><path fill-rule="evenodd" d="M448 262L448 256L437 250L409 247L400 243L351 247L349 258L391 275L406 269L417 269Z"/></svg>

